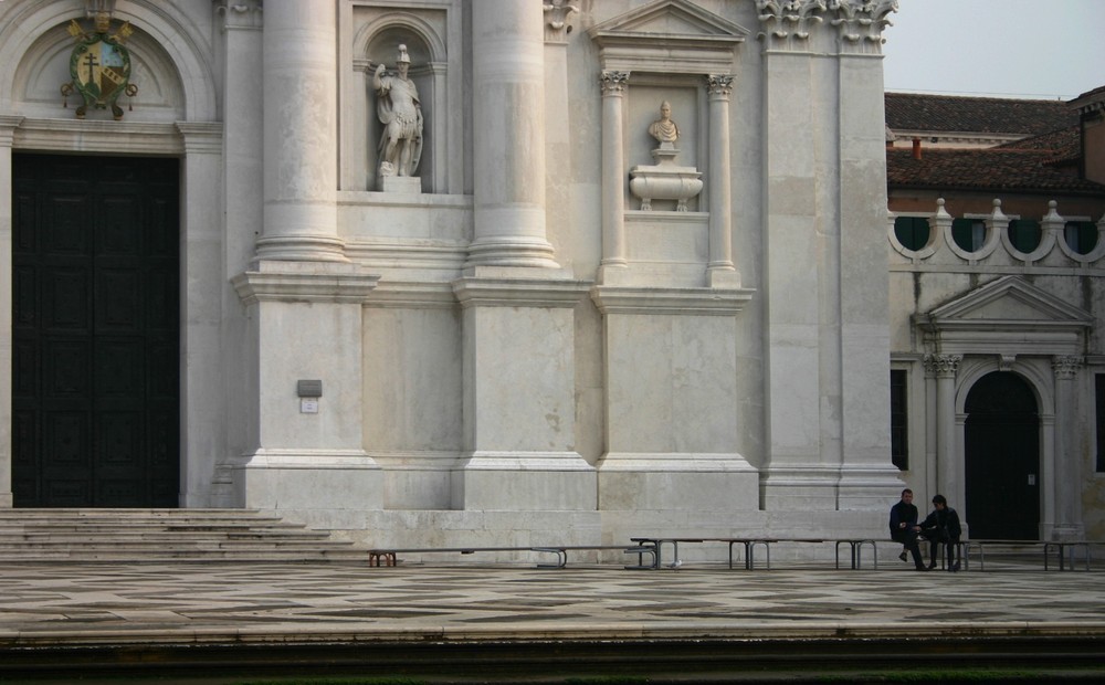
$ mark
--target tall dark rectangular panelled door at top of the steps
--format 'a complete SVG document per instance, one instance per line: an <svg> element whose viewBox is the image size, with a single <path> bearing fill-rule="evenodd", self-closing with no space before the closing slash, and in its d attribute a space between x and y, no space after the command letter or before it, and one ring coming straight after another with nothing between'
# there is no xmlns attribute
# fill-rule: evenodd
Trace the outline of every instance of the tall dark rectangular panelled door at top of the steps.
<svg viewBox="0 0 1105 685"><path fill-rule="evenodd" d="M12 170L14 504L177 506L178 161Z"/></svg>

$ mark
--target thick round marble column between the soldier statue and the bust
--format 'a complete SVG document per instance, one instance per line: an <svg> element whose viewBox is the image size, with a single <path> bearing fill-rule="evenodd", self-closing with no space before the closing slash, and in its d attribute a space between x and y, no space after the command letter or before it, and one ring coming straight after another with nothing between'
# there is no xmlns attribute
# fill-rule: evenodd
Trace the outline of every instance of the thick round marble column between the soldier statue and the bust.
<svg viewBox="0 0 1105 685"><path fill-rule="evenodd" d="M545 29L538 2L472 3L474 239L466 268L557 268L545 234Z"/></svg>

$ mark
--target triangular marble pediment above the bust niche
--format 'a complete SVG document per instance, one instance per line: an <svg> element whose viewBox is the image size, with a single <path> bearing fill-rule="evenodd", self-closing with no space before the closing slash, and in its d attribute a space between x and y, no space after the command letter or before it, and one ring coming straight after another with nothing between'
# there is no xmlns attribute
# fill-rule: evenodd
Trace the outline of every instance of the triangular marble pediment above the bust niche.
<svg viewBox="0 0 1105 685"><path fill-rule="evenodd" d="M725 74L749 32L688 0L656 0L591 27L603 70Z"/></svg>

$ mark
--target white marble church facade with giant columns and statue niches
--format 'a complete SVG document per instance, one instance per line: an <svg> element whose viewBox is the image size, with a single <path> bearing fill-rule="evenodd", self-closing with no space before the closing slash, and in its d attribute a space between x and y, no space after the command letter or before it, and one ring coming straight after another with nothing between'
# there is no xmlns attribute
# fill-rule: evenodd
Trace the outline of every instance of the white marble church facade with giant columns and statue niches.
<svg viewBox="0 0 1105 685"><path fill-rule="evenodd" d="M56 95L90 3L0 3L0 350L12 151L178 157L181 506L375 545L883 537L894 0L116 0L120 122ZM399 44L423 139L389 187ZM702 190L642 211L664 102Z"/></svg>

